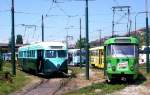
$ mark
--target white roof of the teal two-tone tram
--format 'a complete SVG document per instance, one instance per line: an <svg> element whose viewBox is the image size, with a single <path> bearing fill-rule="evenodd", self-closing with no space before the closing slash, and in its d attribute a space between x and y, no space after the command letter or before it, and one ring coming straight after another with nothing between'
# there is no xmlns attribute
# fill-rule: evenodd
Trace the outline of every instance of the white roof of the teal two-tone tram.
<svg viewBox="0 0 150 95"><path fill-rule="evenodd" d="M67 49L64 42L39 42L30 45L25 45L19 48L20 51L25 50L63 50Z"/></svg>

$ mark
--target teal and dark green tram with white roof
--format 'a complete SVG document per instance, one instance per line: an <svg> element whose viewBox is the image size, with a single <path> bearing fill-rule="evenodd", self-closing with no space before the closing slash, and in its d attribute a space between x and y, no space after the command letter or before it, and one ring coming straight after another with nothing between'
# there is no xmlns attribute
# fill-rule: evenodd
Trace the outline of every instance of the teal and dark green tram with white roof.
<svg viewBox="0 0 150 95"><path fill-rule="evenodd" d="M45 75L68 72L67 46L63 42L40 42L20 47L18 59L25 71Z"/></svg>

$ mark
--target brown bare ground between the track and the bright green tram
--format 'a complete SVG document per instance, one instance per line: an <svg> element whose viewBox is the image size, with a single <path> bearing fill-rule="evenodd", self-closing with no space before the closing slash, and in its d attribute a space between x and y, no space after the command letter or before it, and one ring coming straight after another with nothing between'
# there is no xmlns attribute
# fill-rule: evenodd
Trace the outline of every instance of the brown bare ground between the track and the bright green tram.
<svg viewBox="0 0 150 95"><path fill-rule="evenodd" d="M99 70L90 70L89 71L90 80L86 80L85 73L78 74L76 78L72 78L66 86L60 89L56 95L65 95L64 93L77 90L86 86L91 85L92 83L104 82L103 73Z"/></svg>

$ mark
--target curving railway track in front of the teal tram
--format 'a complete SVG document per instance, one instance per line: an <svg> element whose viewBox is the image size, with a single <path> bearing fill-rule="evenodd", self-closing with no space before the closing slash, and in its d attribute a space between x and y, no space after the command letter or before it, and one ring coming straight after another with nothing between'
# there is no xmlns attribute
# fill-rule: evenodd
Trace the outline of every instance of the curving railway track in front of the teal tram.
<svg viewBox="0 0 150 95"><path fill-rule="evenodd" d="M10 95L56 95L71 80L71 75L61 78L58 76L54 78L39 77L40 81L38 83L29 84L30 86L24 87L22 90Z"/></svg>

